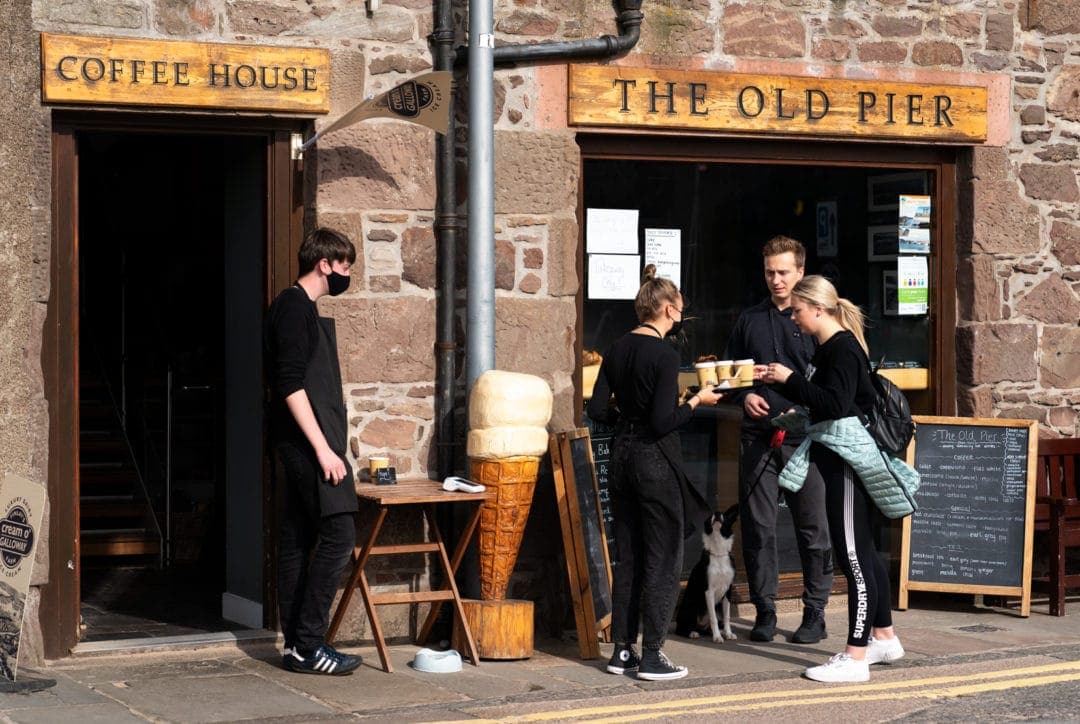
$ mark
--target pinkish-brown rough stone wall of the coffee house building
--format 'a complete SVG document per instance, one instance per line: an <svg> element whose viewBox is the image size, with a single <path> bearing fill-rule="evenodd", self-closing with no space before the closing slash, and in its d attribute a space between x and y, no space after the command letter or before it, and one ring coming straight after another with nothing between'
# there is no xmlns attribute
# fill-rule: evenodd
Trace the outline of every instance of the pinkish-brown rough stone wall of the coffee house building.
<svg viewBox="0 0 1080 724"><path fill-rule="evenodd" d="M456 10L463 42L467 9L459 3ZM998 109L1008 117L1007 137L959 151L956 412L1036 419L1042 434L1080 435L1080 2L662 0L643 3L643 12L640 41L618 63L881 80L1005 79L1007 93L994 100L1007 106ZM616 31L611 5L602 0L500 0L495 18L500 44ZM52 111L40 100L39 33L326 48L334 118L431 68L432 25L431 3L419 0L383 0L373 12L359 0L2 3L5 472L44 483L50 457L65 454L49 448L41 370L53 202ZM460 72L459 81L463 88ZM463 109L459 102L459 146L469 120ZM575 421L578 367L581 156L565 111L565 65L496 71L496 360L500 368L550 381L552 429ZM463 179L463 151L459 165ZM434 459L433 135L396 122L353 125L321 140L305 174L307 222L340 228L356 244L350 291L324 307L338 324L354 462L389 451L399 474L426 474ZM459 280L465 264L462 258ZM464 334L459 329L459 344ZM459 415L459 434L462 427ZM40 557L36 582L59 565ZM362 622L354 625L362 630ZM39 632L32 647L40 655Z"/></svg>

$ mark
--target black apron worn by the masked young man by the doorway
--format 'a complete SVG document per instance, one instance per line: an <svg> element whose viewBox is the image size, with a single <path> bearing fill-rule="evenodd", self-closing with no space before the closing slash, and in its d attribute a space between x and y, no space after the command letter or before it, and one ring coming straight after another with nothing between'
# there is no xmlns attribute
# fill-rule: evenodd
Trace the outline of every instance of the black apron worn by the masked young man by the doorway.
<svg viewBox="0 0 1080 724"><path fill-rule="evenodd" d="M337 359L337 333L334 320L319 318L319 340L315 344L308 374L303 378L303 391L315 413L319 427L330 450L345 462L345 478L337 485L330 481L319 481L319 509L325 515L352 513L360 510L356 502L356 487L352 466L346 457L349 427L341 399L341 368Z"/></svg>

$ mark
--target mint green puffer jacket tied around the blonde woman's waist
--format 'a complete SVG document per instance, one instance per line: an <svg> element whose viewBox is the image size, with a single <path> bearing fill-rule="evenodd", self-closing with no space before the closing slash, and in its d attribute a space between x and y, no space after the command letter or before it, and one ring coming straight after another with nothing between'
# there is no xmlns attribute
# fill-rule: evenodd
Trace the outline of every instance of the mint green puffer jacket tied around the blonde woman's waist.
<svg viewBox="0 0 1080 724"><path fill-rule="evenodd" d="M797 493L806 482L810 468L810 443L825 445L851 466L863 481L866 492L886 518L904 518L915 512L915 493L919 490L919 472L887 453L878 450L874 438L858 417L842 417L807 425L801 417L801 432L806 440L795 450L787 465L780 472L779 483L784 490ZM798 420L789 420L786 429L799 430Z"/></svg>

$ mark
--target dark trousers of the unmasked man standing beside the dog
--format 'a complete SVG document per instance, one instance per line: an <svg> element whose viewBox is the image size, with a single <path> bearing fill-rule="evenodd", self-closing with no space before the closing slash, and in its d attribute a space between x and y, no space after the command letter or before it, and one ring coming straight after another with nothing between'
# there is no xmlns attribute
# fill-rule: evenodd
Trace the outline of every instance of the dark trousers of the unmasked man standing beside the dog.
<svg viewBox="0 0 1080 724"><path fill-rule="evenodd" d="M775 611L780 568L777 555L777 515L780 470L796 445L769 447L770 431L743 431L739 490L743 562L750 600L758 611ZM780 459L778 459L778 457ZM756 484L755 484L756 481ZM751 490L753 487L753 490ZM750 495L747 496L747 491ZM802 566L802 605L824 608L833 587L832 542L825 517L825 483L811 461L806 483L796 494L783 491L792 511Z"/></svg>

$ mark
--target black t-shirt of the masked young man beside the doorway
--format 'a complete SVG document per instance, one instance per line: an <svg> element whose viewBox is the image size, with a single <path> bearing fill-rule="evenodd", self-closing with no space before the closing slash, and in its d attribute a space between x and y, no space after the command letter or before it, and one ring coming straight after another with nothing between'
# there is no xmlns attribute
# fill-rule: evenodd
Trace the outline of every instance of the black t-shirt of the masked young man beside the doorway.
<svg viewBox="0 0 1080 724"><path fill-rule="evenodd" d="M303 389L311 356L319 344L319 307L299 286L282 291L267 314L264 347L272 399L271 429L279 442L306 441L285 405L285 398Z"/></svg>

